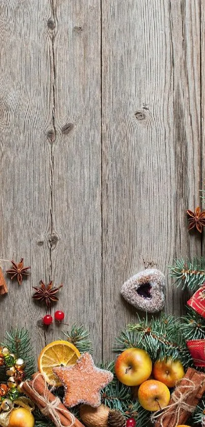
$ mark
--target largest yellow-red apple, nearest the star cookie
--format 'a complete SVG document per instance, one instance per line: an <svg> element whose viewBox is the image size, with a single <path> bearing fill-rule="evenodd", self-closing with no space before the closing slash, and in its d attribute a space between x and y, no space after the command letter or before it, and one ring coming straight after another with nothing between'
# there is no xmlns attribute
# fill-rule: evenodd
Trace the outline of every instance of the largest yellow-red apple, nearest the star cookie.
<svg viewBox="0 0 205 427"><path fill-rule="evenodd" d="M142 349L127 349L115 362L115 374L125 385L134 386L143 383L152 372L152 360Z"/></svg>

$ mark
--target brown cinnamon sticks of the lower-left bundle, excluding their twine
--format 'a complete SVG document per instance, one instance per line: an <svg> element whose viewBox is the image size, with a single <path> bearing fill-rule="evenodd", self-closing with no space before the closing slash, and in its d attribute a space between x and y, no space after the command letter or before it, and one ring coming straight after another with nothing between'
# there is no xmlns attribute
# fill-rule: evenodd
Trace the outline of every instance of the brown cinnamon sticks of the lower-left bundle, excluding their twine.
<svg viewBox="0 0 205 427"><path fill-rule="evenodd" d="M35 380L37 376L38 378ZM34 374L32 378L35 380L35 382L25 381L22 388L27 396L31 398L31 400L41 411L46 407L45 398L50 403L55 400L56 396L54 396L47 387L45 388L45 380L42 375L39 375L39 372ZM42 398L39 397L38 394L42 396ZM58 408L63 410L63 412L57 411L61 423L64 425L64 427L69 427L71 425L71 412L62 403L58 404L56 410ZM48 415L48 418L54 421L51 415ZM77 418L75 418L73 425L74 427L84 427L84 425Z"/></svg>

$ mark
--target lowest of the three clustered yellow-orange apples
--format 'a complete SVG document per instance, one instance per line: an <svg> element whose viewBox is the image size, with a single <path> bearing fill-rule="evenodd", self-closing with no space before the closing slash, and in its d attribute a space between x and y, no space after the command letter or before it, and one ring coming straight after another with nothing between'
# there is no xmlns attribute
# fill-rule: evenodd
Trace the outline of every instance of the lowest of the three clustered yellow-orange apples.
<svg viewBox="0 0 205 427"><path fill-rule="evenodd" d="M148 380L140 385L138 399L140 405L147 411L158 411L168 405L170 392L160 381Z"/></svg>

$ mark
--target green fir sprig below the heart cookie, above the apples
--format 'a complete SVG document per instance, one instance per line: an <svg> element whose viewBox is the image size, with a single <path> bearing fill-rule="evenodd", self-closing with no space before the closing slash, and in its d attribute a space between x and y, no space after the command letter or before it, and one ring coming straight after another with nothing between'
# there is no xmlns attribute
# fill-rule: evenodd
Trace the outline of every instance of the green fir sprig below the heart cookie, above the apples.
<svg viewBox="0 0 205 427"><path fill-rule="evenodd" d="M173 316L164 315L160 319L142 319L137 324L128 325L116 339L117 347L114 351L124 351L130 347L145 350L152 361L162 360L165 357L181 360L187 367L191 356L182 334L180 320Z"/></svg>

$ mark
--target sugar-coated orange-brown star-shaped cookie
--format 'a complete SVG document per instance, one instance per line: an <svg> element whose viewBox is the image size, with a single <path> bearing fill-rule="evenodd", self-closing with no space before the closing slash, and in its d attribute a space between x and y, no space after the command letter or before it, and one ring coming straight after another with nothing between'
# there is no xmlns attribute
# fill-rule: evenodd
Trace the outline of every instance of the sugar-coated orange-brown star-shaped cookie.
<svg viewBox="0 0 205 427"><path fill-rule="evenodd" d="M54 367L53 372L65 388L64 405L67 407L79 403L94 408L100 406L100 390L113 379L111 372L95 366L89 353L83 353L74 365Z"/></svg>

